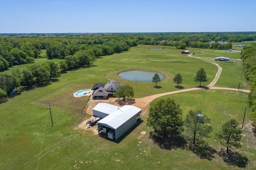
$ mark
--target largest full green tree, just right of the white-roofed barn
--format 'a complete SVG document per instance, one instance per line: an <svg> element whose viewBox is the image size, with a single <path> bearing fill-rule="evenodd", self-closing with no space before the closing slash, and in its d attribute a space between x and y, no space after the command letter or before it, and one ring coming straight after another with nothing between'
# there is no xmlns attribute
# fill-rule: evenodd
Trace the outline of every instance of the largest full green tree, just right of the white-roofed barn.
<svg viewBox="0 0 256 170"><path fill-rule="evenodd" d="M178 136L184 130L180 106L173 99L160 99L149 109L147 126L154 136Z"/></svg>

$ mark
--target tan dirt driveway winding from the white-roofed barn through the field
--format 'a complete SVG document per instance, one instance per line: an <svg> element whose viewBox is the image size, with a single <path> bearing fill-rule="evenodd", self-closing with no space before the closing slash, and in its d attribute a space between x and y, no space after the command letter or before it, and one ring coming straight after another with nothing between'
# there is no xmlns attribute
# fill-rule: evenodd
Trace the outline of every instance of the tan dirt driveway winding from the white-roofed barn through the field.
<svg viewBox="0 0 256 170"><path fill-rule="evenodd" d="M188 55L189 57L193 57L191 55ZM194 58L201 58L201 57L194 57ZM210 63L216 65L218 67L218 71L214 77L214 80L205 88L191 88L191 89L183 89L183 90L179 90L179 91L171 91L171 92L167 92L167 93L161 93L161 94L156 94L156 95L151 95L151 96L147 96L147 97L142 97L139 99L135 99L135 103L132 104L140 109L142 109L142 115L145 115L148 111L149 108L149 103L151 101L153 101L154 99L164 96L164 95L171 95L171 94L175 94L175 93L182 93L182 92L186 92L186 91L196 91L196 90L205 90L205 89L222 89L222 90L234 90L234 91L238 91L238 89L233 89L233 88L224 88L224 87L213 87L215 85L215 83L218 81L220 74L222 72L222 67L220 67L220 65L218 65L217 63L214 63L212 61L210 61ZM243 91L246 93L250 93L250 90L239 90L239 91ZM92 115L92 109L98 104L98 103L109 103L112 105L117 105L116 103L116 98L109 98L108 100L90 100L89 102L89 107L87 108L87 113L89 115Z"/></svg>

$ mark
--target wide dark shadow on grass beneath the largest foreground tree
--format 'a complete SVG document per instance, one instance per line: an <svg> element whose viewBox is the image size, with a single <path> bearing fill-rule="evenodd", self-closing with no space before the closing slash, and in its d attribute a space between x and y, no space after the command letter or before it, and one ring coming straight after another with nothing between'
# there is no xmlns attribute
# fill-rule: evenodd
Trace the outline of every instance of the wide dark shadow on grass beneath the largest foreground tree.
<svg viewBox="0 0 256 170"><path fill-rule="evenodd" d="M157 144L161 149L172 150L172 149L185 149L187 142L183 136L169 137L169 136L154 136L150 134L150 137L155 144Z"/></svg>

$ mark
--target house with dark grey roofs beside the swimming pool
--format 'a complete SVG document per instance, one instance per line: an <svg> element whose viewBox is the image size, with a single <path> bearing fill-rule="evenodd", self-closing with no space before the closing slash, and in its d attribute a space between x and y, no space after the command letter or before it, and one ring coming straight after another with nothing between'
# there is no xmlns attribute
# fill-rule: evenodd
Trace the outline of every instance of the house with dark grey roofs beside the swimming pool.
<svg viewBox="0 0 256 170"><path fill-rule="evenodd" d="M103 83L97 83L93 85L92 97L93 99L108 99L108 97L114 97L116 89L120 86L120 82L114 80L108 80L108 83L105 85Z"/></svg>

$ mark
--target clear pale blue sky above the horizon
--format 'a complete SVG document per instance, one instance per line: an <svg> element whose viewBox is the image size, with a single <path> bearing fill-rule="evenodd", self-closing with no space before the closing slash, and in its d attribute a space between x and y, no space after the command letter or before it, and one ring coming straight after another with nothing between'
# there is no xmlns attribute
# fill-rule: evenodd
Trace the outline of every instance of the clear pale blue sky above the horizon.
<svg viewBox="0 0 256 170"><path fill-rule="evenodd" d="M256 0L0 0L0 33L256 31Z"/></svg>

